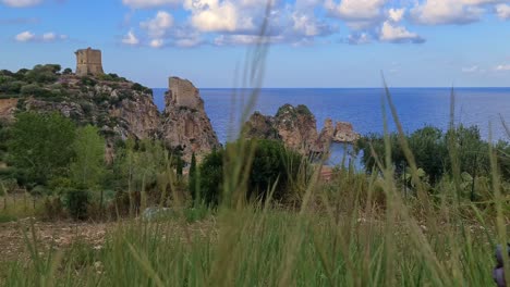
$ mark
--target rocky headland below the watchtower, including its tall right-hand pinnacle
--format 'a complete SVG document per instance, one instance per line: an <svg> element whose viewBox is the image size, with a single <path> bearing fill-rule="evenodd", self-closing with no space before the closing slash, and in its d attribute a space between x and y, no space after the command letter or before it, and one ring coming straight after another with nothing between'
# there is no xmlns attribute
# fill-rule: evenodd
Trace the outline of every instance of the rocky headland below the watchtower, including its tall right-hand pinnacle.
<svg viewBox="0 0 510 287"><path fill-rule="evenodd" d="M117 140L161 139L181 149L183 158L219 147L198 89L189 80L170 78L161 114L153 91L116 74L77 76L58 65L37 65L16 73L0 71L0 120L16 111L60 112L80 125L98 126L108 152Z"/></svg>

